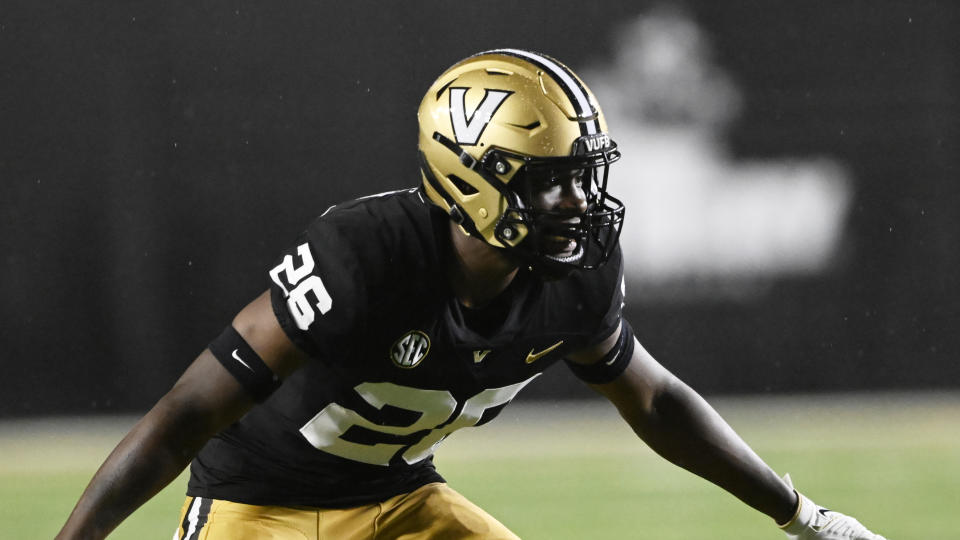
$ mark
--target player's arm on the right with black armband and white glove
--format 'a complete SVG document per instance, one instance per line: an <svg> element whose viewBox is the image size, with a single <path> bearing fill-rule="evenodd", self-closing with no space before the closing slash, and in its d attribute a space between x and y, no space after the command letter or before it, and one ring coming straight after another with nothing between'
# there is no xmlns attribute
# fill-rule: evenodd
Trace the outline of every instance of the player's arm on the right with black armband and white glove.
<svg viewBox="0 0 960 540"><path fill-rule="evenodd" d="M629 324L567 360L655 452L770 516L788 537L882 540L853 518L817 512L820 507L781 479L713 407L644 350ZM829 523L815 522L825 516Z"/></svg>

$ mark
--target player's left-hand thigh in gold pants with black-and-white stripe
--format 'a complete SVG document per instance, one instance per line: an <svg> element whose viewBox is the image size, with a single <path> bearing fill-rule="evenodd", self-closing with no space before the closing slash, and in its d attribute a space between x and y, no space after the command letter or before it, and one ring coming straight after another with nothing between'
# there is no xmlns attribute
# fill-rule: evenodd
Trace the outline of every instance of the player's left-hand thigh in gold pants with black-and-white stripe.
<svg viewBox="0 0 960 540"><path fill-rule="evenodd" d="M188 497L175 540L316 540L317 512Z"/></svg>

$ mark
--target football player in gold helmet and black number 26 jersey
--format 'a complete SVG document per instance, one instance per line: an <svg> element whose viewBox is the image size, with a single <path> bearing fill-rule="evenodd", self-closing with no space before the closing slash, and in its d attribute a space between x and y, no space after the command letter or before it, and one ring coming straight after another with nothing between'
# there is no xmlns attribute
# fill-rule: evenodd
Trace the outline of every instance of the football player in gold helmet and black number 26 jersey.
<svg viewBox="0 0 960 540"><path fill-rule="evenodd" d="M792 538L877 539L777 476L621 315L620 157L558 61L502 49L420 105L419 187L327 210L107 458L59 538L190 464L176 538L513 539L433 453L563 363L647 444Z"/></svg>

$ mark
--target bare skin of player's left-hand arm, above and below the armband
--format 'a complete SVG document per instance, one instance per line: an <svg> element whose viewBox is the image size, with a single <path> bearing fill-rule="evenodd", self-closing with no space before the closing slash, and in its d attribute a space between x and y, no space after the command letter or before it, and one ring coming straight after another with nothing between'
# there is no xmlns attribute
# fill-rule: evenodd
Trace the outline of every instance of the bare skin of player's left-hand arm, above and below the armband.
<svg viewBox="0 0 960 540"><path fill-rule="evenodd" d="M277 323L269 293L241 310L232 326L279 378L303 363L303 354ZM105 537L173 481L210 437L254 403L249 384L241 384L209 349L204 350L107 457L57 538Z"/></svg>

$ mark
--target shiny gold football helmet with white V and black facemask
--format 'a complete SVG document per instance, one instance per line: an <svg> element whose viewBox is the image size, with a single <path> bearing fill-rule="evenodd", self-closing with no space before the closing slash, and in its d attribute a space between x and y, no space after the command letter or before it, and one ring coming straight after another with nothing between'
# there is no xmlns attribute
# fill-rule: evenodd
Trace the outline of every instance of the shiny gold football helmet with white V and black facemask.
<svg viewBox="0 0 960 540"><path fill-rule="evenodd" d="M623 204L607 194L616 143L596 98L569 68L519 49L462 60L433 83L420 104L423 189L466 234L545 273L597 268L617 244ZM582 179L586 211L534 208L525 175ZM542 238L576 249L551 255Z"/></svg>

